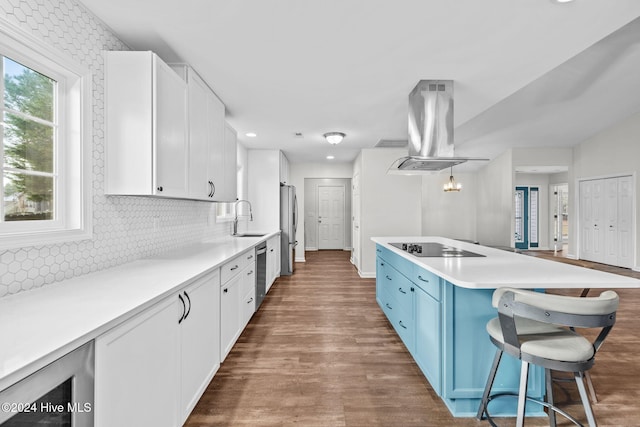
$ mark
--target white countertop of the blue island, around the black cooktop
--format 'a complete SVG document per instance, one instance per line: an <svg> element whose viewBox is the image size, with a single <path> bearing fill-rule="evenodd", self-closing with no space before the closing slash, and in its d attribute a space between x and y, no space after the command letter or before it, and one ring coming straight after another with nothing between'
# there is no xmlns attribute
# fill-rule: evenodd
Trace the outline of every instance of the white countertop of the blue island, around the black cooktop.
<svg viewBox="0 0 640 427"><path fill-rule="evenodd" d="M640 280L631 277L444 237L372 237L371 240L448 282L464 288L495 289L506 286L540 289L640 288ZM422 242L438 242L485 255L485 257L416 257L389 244Z"/></svg>

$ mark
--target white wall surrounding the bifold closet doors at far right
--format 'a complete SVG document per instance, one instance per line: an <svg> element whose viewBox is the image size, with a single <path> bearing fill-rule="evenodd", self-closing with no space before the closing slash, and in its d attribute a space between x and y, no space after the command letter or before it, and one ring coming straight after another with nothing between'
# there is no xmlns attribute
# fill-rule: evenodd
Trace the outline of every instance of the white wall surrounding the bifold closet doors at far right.
<svg viewBox="0 0 640 427"><path fill-rule="evenodd" d="M637 250L640 241L640 215L637 214L640 202L640 186L637 182L640 172L640 113L621 121L616 126L584 141L573 150L573 168L569 174L569 192L573 194L569 205L569 218L578 218L578 181L587 178L599 178L617 175L632 175L635 186L635 266L640 266ZM571 221L569 252L577 254L578 221ZM572 249L573 248L573 249Z"/></svg>

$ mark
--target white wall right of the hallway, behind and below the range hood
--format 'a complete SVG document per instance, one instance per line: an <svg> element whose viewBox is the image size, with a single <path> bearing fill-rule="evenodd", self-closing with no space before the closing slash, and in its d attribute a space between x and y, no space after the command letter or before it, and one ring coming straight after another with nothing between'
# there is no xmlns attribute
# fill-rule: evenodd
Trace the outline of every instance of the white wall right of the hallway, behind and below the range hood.
<svg viewBox="0 0 640 427"><path fill-rule="evenodd" d="M422 177L388 175L406 149L364 149L356 159L360 170L360 274L374 277L376 250L371 237L422 235Z"/></svg>

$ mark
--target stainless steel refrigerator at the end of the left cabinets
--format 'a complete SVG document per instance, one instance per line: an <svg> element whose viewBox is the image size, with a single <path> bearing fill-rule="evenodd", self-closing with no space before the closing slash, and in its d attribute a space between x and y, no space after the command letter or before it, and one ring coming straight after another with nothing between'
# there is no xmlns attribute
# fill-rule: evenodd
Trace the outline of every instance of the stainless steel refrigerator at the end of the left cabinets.
<svg viewBox="0 0 640 427"><path fill-rule="evenodd" d="M295 248L298 244L296 240L296 229L298 228L298 199L296 198L296 187L293 185L280 184L280 234L281 247L280 274L289 276L293 274L293 264L295 259Z"/></svg>

